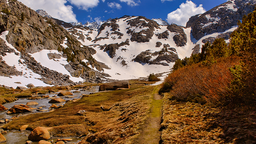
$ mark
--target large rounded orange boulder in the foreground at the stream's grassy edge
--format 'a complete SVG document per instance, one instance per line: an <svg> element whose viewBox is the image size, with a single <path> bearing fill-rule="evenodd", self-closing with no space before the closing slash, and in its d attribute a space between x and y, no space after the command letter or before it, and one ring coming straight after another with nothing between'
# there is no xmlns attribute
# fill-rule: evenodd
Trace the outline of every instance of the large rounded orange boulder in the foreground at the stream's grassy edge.
<svg viewBox="0 0 256 144"><path fill-rule="evenodd" d="M40 141L40 140L49 140L50 133L48 132L46 127L36 127L28 136L28 140L30 141Z"/></svg>

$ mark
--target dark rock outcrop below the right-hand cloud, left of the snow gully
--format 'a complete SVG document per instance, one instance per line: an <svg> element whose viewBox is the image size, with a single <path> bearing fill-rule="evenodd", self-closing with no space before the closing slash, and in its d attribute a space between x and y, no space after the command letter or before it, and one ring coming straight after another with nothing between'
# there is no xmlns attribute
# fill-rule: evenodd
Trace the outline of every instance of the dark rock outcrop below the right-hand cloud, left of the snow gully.
<svg viewBox="0 0 256 144"><path fill-rule="evenodd" d="M167 26L167 29L170 32L177 33L173 36L173 40L176 46L182 47L185 46L187 43L187 35L184 33L184 27L178 26L177 24L172 23L171 25Z"/></svg>

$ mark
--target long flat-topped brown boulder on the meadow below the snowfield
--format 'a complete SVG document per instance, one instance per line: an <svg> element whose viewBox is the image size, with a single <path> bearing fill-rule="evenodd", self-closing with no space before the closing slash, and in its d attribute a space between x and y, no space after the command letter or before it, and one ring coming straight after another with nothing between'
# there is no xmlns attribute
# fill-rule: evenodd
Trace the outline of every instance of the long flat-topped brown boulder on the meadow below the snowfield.
<svg viewBox="0 0 256 144"><path fill-rule="evenodd" d="M100 86L99 91L113 91L118 88L126 88L130 89L130 84L128 80L122 80L119 82L109 83L109 84L103 84Z"/></svg>

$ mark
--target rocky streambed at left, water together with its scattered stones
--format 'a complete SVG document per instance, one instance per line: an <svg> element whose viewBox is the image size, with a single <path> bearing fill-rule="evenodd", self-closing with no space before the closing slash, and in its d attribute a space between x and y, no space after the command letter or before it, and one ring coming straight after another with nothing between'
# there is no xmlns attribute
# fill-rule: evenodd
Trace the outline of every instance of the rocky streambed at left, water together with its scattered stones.
<svg viewBox="0 0 256 144"><path fill-rule="evenodd" d="M89 89L74 89L69 92L71 92L73 95L67 95L67 96L57 96L60 92L54 92L49 93L49 95L38 95L39 99L34 99L33 97L28 98L20 98L17 101L10 102L3 104L4 107L12 108L14 105L27 105L28 103L31 103L33 105L28 105L30 107L31 112L26 113L20 113L20 114L7 114L6 111L0 112L0 131L3 134L3 136L6 138L6 142L3 142L3 144L21 144L26 143L28 141L28 135L31 133L29 130L7 130L4 131L1 129L1 127L5 124L14 119L15 117L21 117L29 114L34 114L38 112L49 112L51 110L54 110L56 108L62 107L65 103L68 103L70 101L76 101L79 98L81 98L83 95L88 95L90 93L98 92L99 86L93 86ZM48 97L49 96L49 97ZM40 98L41 97L41 98ZM45 98L44 98L45 97ZM59 103L49 103L54 98L62 98L65 101L59 102ZM56 107L51 107L52 105L56 105ZM2 120L2 121L1 121ZM2 123L1 123L2 122ZM49 142L52 140L52 142L56 142L57 139L72 139L71 141L65 141L65 143L77 143L80 141L79 138L76 137L53 137L52 139L48 140ZM38 142L32 142L32 144L37 144Z"/></svg>

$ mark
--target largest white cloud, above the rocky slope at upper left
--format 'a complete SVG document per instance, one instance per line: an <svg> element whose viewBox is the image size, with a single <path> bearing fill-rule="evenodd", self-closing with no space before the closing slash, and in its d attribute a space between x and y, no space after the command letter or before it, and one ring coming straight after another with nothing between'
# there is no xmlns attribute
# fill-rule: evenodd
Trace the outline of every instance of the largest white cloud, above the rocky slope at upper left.
<svg viewBox="0 0 256 144"><path fill-rule="evenodd" d="M18 0L33 10L43 9L49 15L65 22L78 22L72 6L66 0Z"/></svg>

